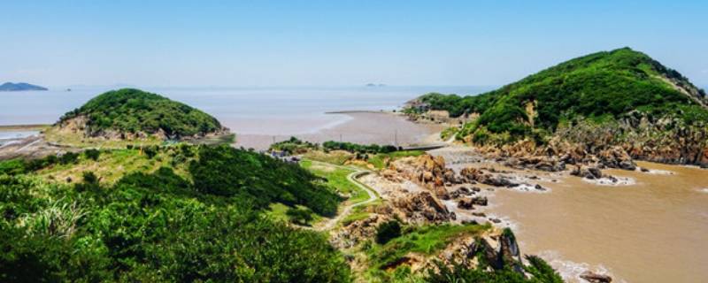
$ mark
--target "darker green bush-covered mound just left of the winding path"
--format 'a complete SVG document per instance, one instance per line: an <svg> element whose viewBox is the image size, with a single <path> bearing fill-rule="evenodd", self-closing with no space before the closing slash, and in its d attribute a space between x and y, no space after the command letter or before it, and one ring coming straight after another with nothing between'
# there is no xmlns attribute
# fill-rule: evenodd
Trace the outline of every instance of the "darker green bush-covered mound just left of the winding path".
<svg viewBox="0 0 708 283"><path fill-rule="evenodd" d="M201 147L189 164L196 190L210 195L249 195L260 208L279 202L301 204L320 215L335 215L340 198L297 164L227 145Z"/></svg>

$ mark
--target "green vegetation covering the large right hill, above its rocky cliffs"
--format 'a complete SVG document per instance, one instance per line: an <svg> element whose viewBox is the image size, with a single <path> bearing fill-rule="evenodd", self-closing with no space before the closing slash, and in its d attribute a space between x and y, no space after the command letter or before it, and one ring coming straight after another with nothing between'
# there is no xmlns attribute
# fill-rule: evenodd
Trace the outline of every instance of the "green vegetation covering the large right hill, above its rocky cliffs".
<svg viewBox="0 0 708 283"><path fill-rule="evenodd" d="M428 94L420 100L453 117L480 113L458 136L472 135L481 143L525 136L543 142L560 123L621 119L632 111L673 115L689 125L708 117L701 105L708 101L704 90L628 48L574 58L479 96Z"/></svg>

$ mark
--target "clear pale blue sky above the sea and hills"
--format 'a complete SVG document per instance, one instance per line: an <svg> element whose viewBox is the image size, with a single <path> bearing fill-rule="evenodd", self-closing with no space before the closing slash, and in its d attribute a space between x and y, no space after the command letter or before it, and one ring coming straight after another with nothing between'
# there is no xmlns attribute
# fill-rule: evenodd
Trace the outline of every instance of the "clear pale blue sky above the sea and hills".
<svg viewBox="0 0 708 283"><path fill-rule="evenodd" d="M0 81L496 86L629 46L708 86L708 1L0 2Z"/></svg>

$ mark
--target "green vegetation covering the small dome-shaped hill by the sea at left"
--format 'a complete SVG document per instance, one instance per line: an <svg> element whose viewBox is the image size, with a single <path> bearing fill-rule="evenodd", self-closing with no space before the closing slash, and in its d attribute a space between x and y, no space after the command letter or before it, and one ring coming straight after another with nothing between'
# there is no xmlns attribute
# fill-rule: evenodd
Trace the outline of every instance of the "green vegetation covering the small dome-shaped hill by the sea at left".
<svg viewBox="0 0 708 283"><path fill-rule="evenodd" d="M155 134L185 137L219 131L217 119L184 103L134 88L106 92L89 100L81 108L67 112L59 123L86 117L89 133L105 130L122 133Z"/></svg>

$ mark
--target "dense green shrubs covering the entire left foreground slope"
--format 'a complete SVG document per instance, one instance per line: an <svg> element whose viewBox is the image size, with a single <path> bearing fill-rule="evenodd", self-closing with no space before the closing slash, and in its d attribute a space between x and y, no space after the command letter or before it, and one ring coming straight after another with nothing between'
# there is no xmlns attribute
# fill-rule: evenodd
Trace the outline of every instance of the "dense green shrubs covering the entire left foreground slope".
<svg viewBox="0 0 708 283"><path fill-rule="evenodd" d="M264 202L254 202L288 199L327 212L335 196L312 174L228 147L155 150L153 159L190 163L187 175L163 166L113 183L84 172L64 184L41 175L65 166L56 157L0 162L0 281L350 280L324 235L273 222L259 212ZM96 159L112 155L102 151ZM70 162L96 162L95 156Z"/></svg>

